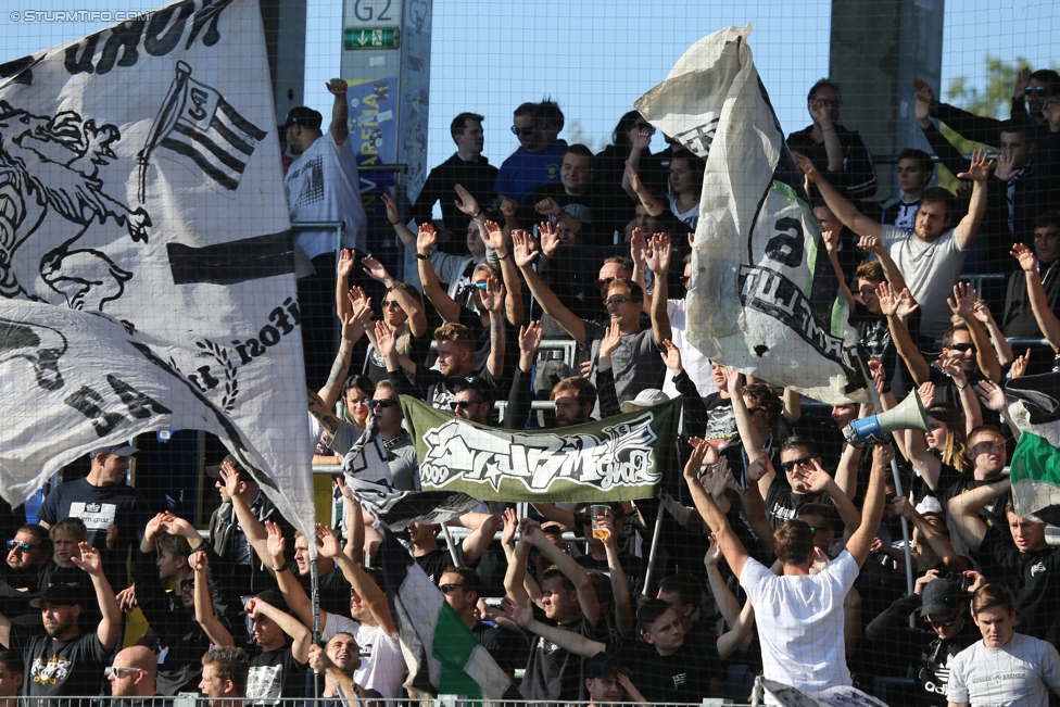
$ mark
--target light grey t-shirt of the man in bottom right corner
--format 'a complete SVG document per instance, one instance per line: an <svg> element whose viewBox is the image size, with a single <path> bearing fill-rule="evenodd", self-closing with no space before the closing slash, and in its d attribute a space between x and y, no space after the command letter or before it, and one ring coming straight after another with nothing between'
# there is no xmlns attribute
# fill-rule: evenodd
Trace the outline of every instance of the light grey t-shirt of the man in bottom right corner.
<svg viewBox="0 0 1060 707"><path fill-rule="evenodd" d="M1000 648L976 641L949 667L946 698L973 707L1048 707L1060 686L1060 655L1051 643L1017 633Z"/></svg>

